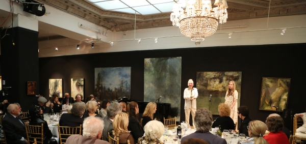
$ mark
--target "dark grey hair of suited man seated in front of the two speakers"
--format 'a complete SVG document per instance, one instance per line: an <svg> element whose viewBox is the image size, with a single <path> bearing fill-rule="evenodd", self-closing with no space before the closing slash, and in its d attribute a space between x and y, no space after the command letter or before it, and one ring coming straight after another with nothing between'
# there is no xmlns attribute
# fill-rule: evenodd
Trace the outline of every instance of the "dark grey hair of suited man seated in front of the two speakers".
<svg viewBox="0 0 306 144"><path fill-rule="evenodd" d="M195 112L194 127L199 132L208 132L211 130L213 122L212 113L206 108L200 108Z"/></svg>

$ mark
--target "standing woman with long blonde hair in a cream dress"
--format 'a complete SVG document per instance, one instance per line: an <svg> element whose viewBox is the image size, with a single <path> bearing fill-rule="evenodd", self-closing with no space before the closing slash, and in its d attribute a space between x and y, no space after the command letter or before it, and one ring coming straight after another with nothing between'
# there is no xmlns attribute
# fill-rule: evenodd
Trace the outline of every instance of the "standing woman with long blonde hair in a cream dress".
<svg viewBox="0 0 306 144"><path fill-rule="evenodd" d="M225 95L224 103L230 106L231 108L230 117L233 119L235 124L238 122L237 100L238 100L238 92L236 91L235 81L230 81L228 82L228 89ZM237 125L235 129L237 129Z"/></svg>

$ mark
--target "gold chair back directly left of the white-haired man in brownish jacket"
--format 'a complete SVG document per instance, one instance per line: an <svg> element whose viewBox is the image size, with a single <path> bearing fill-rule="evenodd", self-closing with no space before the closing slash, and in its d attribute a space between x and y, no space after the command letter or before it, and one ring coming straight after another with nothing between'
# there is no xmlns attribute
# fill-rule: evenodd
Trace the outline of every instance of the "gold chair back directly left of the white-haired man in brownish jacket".
<svg viewBox="0 0 306 144"><path fill-rule="evenodd" d="M74 135L74 134L82 134L82 125L80 125L80 127L65 127L65 126L59 126L59 143L65 143L67 138L70 135Z"/></svg>

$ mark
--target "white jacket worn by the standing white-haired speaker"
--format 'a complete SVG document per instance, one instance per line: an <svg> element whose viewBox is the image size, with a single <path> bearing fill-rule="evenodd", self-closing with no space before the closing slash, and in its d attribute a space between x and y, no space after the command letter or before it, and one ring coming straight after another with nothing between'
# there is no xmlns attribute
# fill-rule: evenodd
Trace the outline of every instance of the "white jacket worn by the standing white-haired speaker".
<svg viewBox="0 0 306 144"><path fill-rule="evenodd" d="M194 100L191 103L191 98L190 98L190 94L192 92L192 96L194 98ZM184 109L189 109L191 108L191 104L192 104L192 108L196 109L196 98L198 96L198 92L196 88L192 88L192 90L189 90L189 88L186 88L184 90L184 99L185 99L185 107Z"/></svg>

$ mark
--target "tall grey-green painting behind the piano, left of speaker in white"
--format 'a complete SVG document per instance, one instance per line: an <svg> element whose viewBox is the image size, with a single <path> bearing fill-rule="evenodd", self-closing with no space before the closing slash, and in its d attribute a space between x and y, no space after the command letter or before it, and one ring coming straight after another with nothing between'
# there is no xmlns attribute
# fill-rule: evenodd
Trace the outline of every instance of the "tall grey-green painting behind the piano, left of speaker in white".
<svg viewBox="0 0 306 144"><path fill-rule="evenodd" d="M171 115L180 122L182 57L144 59L144 101L171 103ZM187 86L187 84L186 84Z"/></svg>

